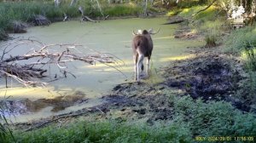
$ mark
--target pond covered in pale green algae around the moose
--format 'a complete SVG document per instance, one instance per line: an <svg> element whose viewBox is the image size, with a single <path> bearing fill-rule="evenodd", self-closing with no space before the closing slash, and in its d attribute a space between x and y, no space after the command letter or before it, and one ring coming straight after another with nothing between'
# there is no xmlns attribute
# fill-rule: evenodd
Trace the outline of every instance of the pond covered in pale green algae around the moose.
<svg viewBox="0 0 256 143"><path fill-rule="evenodd" d="M204 44L198 40L175 39L173 33L178 25L163 25L164 23L166 23L166 17L104 20L98 23L81 23L71 20L53 23L50 26L31 27L25 34L13 34L12 36L16 39L33 37L46 44L82 44L84 47L96 51L113 54L125 64L118 67L119 72L110 66L98 63L92 66L75 61L68 68L76 78L69 76L57 80L49 83L44 89L20 87L20 84L10 79L8 83L12 88L5 89L5 80L1 78L0 100L2 102L4 100L9 108L13 108L12 114L15 114L15 116L8 117L12 118L14 122L27 122L40 117L73 112L84 107L101 104L100 97L108 94L114 85L133 80L131 39L132 31L137 29L152 27L157 30L160 28L160 32L152 36L154 51L150 64L151 77L144 80L150 83L160 82L160 76L157 74L160 67L166 66L170 60L182 60L191 56L185 52L188 51L188 47L198 47ZM12 40L9 40L7 43L11 42ZM1 44L6 43L0 43L0 46ZM13 52L14 54L25 54L30 49L23 45L22 48L15 49ZM85 49L79 50L86 53ZM7 97L8 99L6 99ZM15 108L17 108L16 111Z"/></svg>

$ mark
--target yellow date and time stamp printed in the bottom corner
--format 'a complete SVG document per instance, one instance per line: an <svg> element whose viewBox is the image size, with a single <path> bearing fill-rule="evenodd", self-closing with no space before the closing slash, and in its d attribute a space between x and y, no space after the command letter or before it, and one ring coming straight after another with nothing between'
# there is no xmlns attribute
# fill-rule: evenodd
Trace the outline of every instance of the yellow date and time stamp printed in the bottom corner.
<svg viewBox="0 0 256 143"><path fill-rule="evenodd" d="M253 136L195 136L195 141L246 141L254 142Z"/></svg>

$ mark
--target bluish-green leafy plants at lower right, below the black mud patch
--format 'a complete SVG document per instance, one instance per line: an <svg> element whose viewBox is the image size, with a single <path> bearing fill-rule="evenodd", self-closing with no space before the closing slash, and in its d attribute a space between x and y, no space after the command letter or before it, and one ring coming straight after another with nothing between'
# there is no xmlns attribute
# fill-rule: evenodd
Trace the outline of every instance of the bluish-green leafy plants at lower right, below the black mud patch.
<svg viewBox="0 0 256 143"><path fill-rule="evenodd" d="M224 101L194 101L184 96L174 100L174 110L175 120L182 120L195 136L256 135L255 114L242 113Z"/></svg>

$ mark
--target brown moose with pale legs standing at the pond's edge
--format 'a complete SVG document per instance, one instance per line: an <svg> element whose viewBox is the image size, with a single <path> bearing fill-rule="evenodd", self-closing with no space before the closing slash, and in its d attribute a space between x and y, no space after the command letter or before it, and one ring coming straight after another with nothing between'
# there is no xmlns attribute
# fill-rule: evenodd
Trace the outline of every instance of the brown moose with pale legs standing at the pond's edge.
<svg viewBox="0 0 256 143"><path fill-rule="evenodd" d="M157 32L153 32L153 29L147 30L138 30L137 33L133 31L133 37L131 47L133 52L133 60L135 64L134 72L135 72L135 80L140 82L141 71L144 70L143 59L147 57L147 77L149 70L149 60L151 58L152 50L153 50L153 41L150 35L157 34Z"/></svg>

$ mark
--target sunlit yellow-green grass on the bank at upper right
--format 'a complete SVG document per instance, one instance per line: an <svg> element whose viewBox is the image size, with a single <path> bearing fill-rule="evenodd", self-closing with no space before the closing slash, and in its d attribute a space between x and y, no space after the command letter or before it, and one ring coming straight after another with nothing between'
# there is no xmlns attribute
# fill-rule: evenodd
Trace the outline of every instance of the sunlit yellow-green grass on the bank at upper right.
<svg viewBox="0 0 256 143"><path fill-rule="evenodd" d="M171 16L178 14L179 16L187 18L190 21L189 27L192 28L193 31L205 34L205 41L207 43L206 46L215 47L223 40L221 31L225 31L227 29L224 22L224 14L219 13L219 9L214 6L211 6L209 9L196 14L205 7L206 6L199 5L186 9L172 9L172 11L170 11L167 15ZM218 18L216 18L217 15L219 16Z"/></svg>

